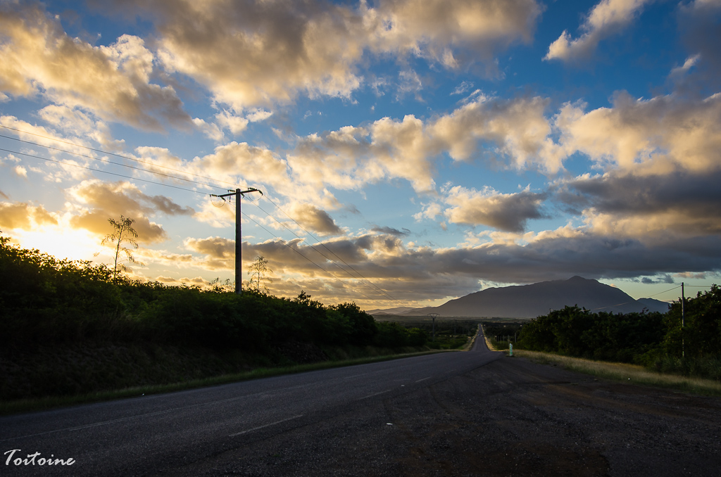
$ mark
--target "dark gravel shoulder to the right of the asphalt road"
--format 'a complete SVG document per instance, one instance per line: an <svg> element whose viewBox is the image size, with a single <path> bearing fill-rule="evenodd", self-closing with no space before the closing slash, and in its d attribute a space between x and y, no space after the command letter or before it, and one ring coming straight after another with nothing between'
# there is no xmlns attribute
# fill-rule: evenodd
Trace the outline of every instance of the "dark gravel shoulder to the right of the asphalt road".
<svg viewBox="0 0 721 477"><path fill-rule="evenodd" d="M721 476L720 438L720 398L503 357L164 475Z"/></svg>

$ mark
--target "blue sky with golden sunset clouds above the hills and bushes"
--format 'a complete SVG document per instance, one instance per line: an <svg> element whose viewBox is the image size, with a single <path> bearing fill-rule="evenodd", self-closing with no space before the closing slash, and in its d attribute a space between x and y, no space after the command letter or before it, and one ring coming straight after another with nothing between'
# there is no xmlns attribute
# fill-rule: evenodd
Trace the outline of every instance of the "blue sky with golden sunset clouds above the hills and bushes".
<svg viewBox="0 0 721 477"><path fill-rule="evenodd" d="M273 295L677 300L720 281L720 46L721 0L0 0L0 230L112 266L123 215L128 275L205 287L257 189Z"/></svg>

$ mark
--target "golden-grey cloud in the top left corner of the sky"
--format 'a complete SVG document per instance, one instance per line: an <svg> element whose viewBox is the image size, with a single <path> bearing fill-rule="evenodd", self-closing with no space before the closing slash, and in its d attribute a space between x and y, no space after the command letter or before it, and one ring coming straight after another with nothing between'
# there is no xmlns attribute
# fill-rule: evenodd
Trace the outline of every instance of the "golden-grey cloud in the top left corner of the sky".
<svg viewBox="0 0 721 477"><path fill-rule="evenodd" d="M2 92L42 95L136 128L190 126L174 89L150 82L154 55L141 38L123 35L94 47L69 37L39 6L14 2L0 5L0 30Z"/></svg>

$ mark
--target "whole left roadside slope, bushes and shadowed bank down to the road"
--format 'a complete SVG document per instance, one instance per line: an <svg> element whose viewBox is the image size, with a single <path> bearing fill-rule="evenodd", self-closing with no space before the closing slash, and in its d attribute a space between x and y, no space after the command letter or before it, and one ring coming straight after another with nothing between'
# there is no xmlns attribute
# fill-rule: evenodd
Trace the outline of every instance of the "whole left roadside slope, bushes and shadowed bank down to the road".
<svg viewBox="0 0 721 477"><path fill-rule="evenodd" d="M57 259L4 236L0 283L6 402L429 351L423 329L376 322L355 303L279 298L262 286L237 295L218 282L208 290L140 282L117 266Z"/></svg>

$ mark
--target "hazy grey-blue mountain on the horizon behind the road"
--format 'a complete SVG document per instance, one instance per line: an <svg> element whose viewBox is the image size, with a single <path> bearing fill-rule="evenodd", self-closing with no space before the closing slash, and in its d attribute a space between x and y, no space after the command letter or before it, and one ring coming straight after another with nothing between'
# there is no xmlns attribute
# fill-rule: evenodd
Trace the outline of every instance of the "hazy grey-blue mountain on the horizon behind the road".
<svg viewBox="0 0 721 477"><path fill-rule="evenodd" d="M441 316L536 318L547 315L550 310L577 305L595 313L600 311L632 313L642 311L644 308L661 313L668 311L668 303L663 301L653 298L634 300L623 290L603 285L598 280L572 277L568 280L553 280L533 285L487 288L450 300L441 306L412 308L400 313L387 310L372 310L368 313L398 315L440 313Z"/></svg>

